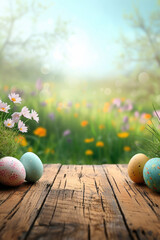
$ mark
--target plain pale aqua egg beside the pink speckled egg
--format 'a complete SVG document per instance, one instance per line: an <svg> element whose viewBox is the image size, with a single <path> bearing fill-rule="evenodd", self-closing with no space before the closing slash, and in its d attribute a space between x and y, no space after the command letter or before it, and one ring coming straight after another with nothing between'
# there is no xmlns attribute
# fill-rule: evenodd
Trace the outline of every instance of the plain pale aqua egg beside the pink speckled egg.
<svg viewBox="0 0 160 240"><path fill-rule="evenodd" d="M26 152L20 161L26 170L26 181L38 181L43 174L43 164L40 158L32 152Z"/></svg>

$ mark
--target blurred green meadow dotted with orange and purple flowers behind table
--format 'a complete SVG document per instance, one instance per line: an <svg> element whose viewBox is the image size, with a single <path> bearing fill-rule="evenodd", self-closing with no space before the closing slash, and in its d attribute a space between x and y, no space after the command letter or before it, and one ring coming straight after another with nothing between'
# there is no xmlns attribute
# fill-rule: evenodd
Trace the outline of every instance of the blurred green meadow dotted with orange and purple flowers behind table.
<svg viewBox="0 0 160 240"><path fill-rule="evenodd" d="M106 84L106 86L105 86ZM151 135L146 126L154 117L151 104L143 106L107 83L1 84L1 99L19 93L22 106L35 109L39 124L27 122L27 134L19 134L17 158L36 153L43 163L128 163ZM145 109L145 111L143 110ZM142 150L143 151L143 150Z"/></svg>

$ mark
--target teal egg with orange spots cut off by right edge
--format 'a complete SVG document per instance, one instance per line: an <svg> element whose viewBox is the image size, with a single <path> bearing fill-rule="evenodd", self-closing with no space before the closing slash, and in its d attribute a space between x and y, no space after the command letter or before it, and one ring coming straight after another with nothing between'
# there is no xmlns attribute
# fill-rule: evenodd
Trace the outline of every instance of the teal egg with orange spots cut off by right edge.
<svg viewBox="0 0 160 240"><path fill-rule="evenodd" d="M152 158L143 168L143 178L146 185L156 192L160 192L160 158Z"/></svg>

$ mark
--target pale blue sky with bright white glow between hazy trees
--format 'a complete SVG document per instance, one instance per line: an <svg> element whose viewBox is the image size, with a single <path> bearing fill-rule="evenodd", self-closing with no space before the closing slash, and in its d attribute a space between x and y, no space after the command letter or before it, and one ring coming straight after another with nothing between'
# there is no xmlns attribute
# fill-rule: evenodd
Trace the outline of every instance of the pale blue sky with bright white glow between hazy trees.
<svg viewBox="0 0 160 240"><path fill-rule="evenodd" d="M157 6L156 0L55 0L45 17L67 20L73 32L63 61L66 73L99 77L118 73L122 48L117 40L120 34L134 36L124 15L137 7L147 21ZM61 59L59 51L57 56Z"/></svg>

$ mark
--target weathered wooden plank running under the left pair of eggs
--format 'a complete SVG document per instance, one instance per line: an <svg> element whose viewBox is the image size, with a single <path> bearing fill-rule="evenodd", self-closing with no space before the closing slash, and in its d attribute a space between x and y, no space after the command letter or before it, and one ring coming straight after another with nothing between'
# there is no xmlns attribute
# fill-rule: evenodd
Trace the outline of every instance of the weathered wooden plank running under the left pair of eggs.
<svg viewBox="0 0 160 240"><path fill-rule="evenodd" d="M0 205L0 238L23 239L34 223L57 176L60 164L46 165L42 178L35 184L22 184ZM5 191L5 190L4 190ZM7 189L7 191L9 191ZM1 192L2 196L4 192ZM1 195L0 195L1 196ZM22 235L23 233L23 235Z"/></svg>

